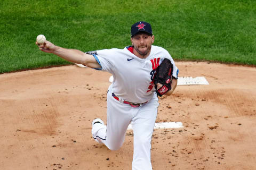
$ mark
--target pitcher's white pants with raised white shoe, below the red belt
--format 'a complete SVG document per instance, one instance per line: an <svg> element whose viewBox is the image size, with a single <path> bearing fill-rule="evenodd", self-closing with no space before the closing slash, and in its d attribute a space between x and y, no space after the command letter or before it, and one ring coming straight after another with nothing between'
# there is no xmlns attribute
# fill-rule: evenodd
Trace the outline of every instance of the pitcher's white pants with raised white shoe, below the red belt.
<svg viewBox="0 0 256 170"><path fill-rule="evenodd" d="M156 95L140 107L120 103L107 93L107 125L95 123L92 135L95 141L104 143L110 150L119 149L124 142L128 125L133 129L133 170L151 170L150 150L154 131L158 98Z"/></svg>

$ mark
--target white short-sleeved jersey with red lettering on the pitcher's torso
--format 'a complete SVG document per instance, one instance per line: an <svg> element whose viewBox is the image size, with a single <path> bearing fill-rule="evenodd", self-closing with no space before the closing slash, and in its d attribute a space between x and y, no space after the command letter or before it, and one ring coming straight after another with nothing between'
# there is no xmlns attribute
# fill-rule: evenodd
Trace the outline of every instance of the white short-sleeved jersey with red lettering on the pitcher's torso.
<svg viewBox="0 0 256 170"><path fill-rule="evenodd" d="M98 70L113 74L113 92L119 98L132 103L149 101L155 94L153 75L164 58L172 62L172 75L178 79L179 70L164 48L152 46L149 56L145 59L135 56L132 52L133 47L128 46L124 49L102 49L91 53L102 67Z"/></svg>

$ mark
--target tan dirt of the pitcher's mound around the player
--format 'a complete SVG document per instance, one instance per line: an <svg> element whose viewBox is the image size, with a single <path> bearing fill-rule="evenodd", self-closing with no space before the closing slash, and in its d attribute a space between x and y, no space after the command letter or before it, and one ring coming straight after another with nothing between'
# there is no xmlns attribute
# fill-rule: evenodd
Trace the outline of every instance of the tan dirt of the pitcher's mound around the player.
<svg viewBox="0 0 256 170"><path fill-rule="evenodd" d="M210 85L178 86L159 98L153 169L256 169L256 68L176 62L180 77ZM91 137L106 122L109 73L75 65L0 75L0 169L131 169L133 133L110 151Z"/></svg>

